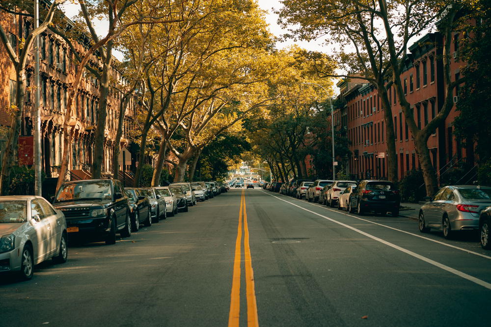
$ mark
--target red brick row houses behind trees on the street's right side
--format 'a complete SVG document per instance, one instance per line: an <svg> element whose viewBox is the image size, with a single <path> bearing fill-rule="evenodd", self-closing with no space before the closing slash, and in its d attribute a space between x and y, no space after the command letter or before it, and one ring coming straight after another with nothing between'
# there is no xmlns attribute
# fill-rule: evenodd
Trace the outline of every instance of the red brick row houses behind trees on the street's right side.
<svg viewBox="0 0 491 327"><path fill-rule="evenodd" d="M454 33L453 39L449 40L452 42L450 60L453 81L460 78L460 70L464 65L459 60L461 37ZM444 42L441 34L428 33L409 47L410 53L403 58L404 70L401 80L404 93L412 105L415 122L420 128L435 117L444 102ZM338 157L337 160L353 179L387 178L386 126L377 89L370 83L356 79L344 79L338 82L337 86L340 88L338 100L342 105L334 109L334 128L346 130L351 142L351 156ZM445 122L428 140L439 183L446 174L452 173L457 167L463 169L459 181L461 184L472 182L477 175L473 146L464 148L453 136L452 122L458 115L458 94L459 87L456 87L453 96L454 107ZM402 179L411 169L419 169L419 162L394 86L388 89L388 97L394 122L398 177Z"/></svg>

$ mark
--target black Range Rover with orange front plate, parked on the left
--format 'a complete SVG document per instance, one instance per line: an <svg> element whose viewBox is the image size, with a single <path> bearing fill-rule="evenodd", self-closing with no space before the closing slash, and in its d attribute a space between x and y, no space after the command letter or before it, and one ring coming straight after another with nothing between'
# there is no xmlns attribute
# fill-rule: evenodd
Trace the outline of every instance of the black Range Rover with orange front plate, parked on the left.
<svg viewBox="0 0 491 327"><path fill-rule="evenodd" d="M53 206L65 214L67 232L116 243L116 232L131 235L128 197L116 179L65 182L56 191Z"/></svg>

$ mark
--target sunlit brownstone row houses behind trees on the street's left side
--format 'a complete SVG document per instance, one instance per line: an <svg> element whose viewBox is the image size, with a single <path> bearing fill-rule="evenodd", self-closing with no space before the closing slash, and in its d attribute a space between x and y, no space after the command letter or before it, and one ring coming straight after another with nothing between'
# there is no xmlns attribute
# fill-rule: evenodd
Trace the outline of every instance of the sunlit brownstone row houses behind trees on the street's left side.
<svg viewBox="0 0 491 327"><path fill-rule="evenodd" d="M20 40L25 39L32 29L30 19L19 18L12 14L0 12L0 21L10 43L19 51ZM70 21L67 19L67 23ZM82 35L83 36L83 35ZM88 49L88 43L82 41L76 47L83 53ZM88 39L86 39L88 40ZM33 54L29 55L27 67L26 102L22 117L19 139L19 164L32 163L33 130L31 111L34 109ZM94 57L92 64L99 66ZM3 153L10 126L8 107L15 102L15 73L7 52L0 46L0 152ZM58 177L58 169L63 153L63 120L66 112L68 89L74 81L76 62L67 44L48 30L40 36L40 104L41 104L41 133L42 133L42 165L48 178ZM129 132L134 126L136 117L137 97L134 96L125 112L123 137L121 144L114 144L117 130L117 115L122 92L119 91L128 83L116 67L112 68L113 85L110 87L108 101L108 116L104 142L103 175L109 177L112 169L112 153L116 146L121 146L120 170L134 169L136 164L137 146L129 141ZM97 106L99 101L99 85L97 79L84 74L82 83L77 90L75 109L70 121L70 133L73 142L70 145L70 164L67 178L86 179L90 177L90 164L93 156L93 141L97 125ZM123 160L124 159L124 160Z"/></svg>

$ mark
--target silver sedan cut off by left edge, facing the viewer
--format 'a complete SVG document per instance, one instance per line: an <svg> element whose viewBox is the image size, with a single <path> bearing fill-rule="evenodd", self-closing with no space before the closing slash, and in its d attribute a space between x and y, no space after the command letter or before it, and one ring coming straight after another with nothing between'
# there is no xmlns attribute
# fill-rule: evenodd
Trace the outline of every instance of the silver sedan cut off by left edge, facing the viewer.
<svg viewBox="0 0 491 327"><path fill-rule="evenodd" d="M1 196L0 273L30 279L34 265L50 258L58 263L68 259L63 213L41 196Z"/></svg>

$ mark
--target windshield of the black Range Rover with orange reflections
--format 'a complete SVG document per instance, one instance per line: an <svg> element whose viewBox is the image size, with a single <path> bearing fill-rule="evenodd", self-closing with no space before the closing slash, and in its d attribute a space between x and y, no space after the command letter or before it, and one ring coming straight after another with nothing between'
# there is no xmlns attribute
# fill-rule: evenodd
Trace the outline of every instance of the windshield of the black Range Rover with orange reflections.
<svg viewBox="0 0 491 327"><path fill-rule="evenodd" d="M82 199L111 200L110 182L97 181L64 184L60 187L54 202Z"/></svg>

